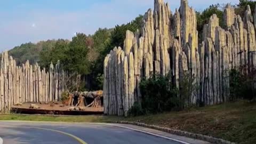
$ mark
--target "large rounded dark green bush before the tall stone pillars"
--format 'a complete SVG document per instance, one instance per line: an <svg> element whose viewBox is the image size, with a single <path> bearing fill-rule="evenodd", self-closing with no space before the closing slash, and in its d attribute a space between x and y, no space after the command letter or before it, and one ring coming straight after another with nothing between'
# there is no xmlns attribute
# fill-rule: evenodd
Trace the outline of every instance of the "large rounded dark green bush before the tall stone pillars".
<svg viewBox="0 0 256 144"><path fill-rule="evenodd" d="M142 79L140 83L142 94L141 107L145 113L161 113L177 107L177 90L169 76L153 75Z"/></svg>

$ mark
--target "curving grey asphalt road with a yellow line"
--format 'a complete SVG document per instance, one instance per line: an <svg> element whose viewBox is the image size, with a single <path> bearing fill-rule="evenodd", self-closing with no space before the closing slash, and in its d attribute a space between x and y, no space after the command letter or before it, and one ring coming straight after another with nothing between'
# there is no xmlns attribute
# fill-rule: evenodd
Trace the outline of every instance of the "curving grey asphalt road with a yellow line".
<svg viewBox="0 0 256 144"><path fill-rule="evenodd" d="M97 124L0 122L3 144L180 144L154 135Z"/></svg>

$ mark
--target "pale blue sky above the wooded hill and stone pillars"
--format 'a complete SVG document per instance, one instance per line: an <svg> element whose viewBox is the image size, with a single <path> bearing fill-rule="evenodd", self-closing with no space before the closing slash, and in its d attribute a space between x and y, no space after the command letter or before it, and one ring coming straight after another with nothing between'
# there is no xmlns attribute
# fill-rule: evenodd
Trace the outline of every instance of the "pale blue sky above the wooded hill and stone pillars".
<svg viewBox="0 0 256 144"><path fill-rule="evenodd" d="M202 11L211 4L239 0L189 0ZM98 28L122 25L153 9L154 0L0 0L0 51L27 42L71 39L75 33L93 34ZM171 10L179 0L165 0Z"/></svg>

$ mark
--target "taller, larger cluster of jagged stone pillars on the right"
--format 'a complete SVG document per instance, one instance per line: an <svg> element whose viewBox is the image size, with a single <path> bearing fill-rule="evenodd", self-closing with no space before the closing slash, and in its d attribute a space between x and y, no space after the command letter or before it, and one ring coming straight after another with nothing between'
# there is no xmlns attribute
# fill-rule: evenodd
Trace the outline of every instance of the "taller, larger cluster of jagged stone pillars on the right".
<svg viewBox="0 0 256 144"><path fill-rule="evenodd" d="M256 13L248 6L241 18L227 5L223 21L225 28L213 14L198 42L196 12L187 0L181 0L174 14L163 0L155 0L154 11L145 13L143 27L135 33L127 30L123 49L115 47L105 58L105 114L127 115L133 103L141 100L141 78L153 73L171 74L178 89L186 71L195 76L194 84L200 89L191 95L191 103L228 101L229 70L256 68Z"/></svg>

